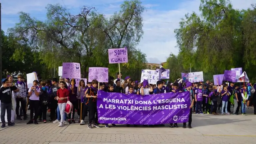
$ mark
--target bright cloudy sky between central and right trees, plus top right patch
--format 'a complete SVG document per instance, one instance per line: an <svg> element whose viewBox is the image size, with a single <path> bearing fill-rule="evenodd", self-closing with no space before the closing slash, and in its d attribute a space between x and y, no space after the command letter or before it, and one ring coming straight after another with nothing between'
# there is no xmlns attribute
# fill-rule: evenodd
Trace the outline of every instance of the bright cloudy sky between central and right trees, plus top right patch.
<svg viewBox="0 0 256 144"><path fill-rule="evenodd" d="M240 10L249 8L253 3L255 0L232 0L233 8ZM144 35L138 48L146 53L149 62L165 62L170 53L178 54L174 29L179 28L179 21L186 13L194 11L199 14L199 6L200 0L189 0L175 10L147 10L143 14Z"/></svg>

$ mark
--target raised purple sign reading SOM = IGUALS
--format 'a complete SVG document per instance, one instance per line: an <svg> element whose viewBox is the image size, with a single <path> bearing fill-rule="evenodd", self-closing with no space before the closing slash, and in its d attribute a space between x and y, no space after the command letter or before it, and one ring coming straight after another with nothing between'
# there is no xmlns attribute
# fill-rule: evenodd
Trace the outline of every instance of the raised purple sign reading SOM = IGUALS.
<svg viewBox="0 0 256 144"><path fill-rule="evenodd" d="M108 49L109 63L128 63L127 48Z"/></svg>

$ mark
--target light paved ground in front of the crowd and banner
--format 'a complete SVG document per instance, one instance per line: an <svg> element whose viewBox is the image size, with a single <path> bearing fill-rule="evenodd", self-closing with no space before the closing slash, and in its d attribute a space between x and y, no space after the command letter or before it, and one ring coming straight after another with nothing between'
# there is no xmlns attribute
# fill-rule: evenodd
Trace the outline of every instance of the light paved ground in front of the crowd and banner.
<svg viewBox="0 0 256 144"><path fill-rule="evenodd" d="M249 110L252 113L253 110ZM49 114L49 113L48 113ZM19 121L16 121L19 122ZM51 122L0 128L0 144L173 143L252 144L256 142L256 115L195 115L192 129L165 127L118 127L88 129L79 124L58 127Z"/></svg>

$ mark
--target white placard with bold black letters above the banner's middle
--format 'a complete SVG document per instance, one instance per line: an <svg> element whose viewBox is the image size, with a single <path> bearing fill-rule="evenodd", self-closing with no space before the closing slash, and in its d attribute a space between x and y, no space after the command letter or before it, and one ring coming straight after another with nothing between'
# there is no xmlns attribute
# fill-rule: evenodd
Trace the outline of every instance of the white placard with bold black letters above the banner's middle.
<svg viewBox="0 0 256 144"><path fill-rule="evenodd" d="M141 79L142 83L144 79L148 80L149 84L156 84L159 81L159 70L141 70Z"/></svg>

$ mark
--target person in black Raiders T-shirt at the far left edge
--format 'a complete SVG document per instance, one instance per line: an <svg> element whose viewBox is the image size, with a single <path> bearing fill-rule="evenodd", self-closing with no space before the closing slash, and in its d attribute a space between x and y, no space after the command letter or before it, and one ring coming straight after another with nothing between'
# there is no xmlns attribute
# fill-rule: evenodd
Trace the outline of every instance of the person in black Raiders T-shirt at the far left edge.
<svg viewBox="0 0 256 144"><path fill-rule="evenodd" d="M12 115L12 91L19 92L16 86L10 85L8 79L2 79L3 86L0 89L0 100L1 100L1 121L2 126L1 128L5 127L5 112L7 112L7 121L8 126L14 126L14 123L11 122L11 115Z"/></svg>

